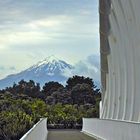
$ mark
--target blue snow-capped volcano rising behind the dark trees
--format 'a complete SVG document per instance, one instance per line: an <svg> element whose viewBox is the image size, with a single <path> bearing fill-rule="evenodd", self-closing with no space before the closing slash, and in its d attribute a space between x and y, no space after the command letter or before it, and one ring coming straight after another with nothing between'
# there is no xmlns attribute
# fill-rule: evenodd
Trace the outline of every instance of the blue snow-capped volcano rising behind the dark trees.
<svg viewBox="0 0 140 140"><path fill-rule="evenodd" d="M48 81L64 83L67 80L64 72L71 71L72 69L72 65L59 60L55 56L50 56L20 73L9 75L0 80L0 88L12 86L14 82L17 83L22 79L26 81L34 80L40 83L41 86Z"/></svg>

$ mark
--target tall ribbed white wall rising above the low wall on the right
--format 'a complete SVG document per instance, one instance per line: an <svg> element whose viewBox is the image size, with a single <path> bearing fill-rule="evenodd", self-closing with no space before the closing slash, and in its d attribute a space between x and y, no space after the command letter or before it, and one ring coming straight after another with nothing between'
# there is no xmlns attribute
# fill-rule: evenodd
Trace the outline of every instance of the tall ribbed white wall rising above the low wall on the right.
<svg viewBox="0 0 140 140"><path fill-rule="evenodd" d="M108 9L101 7L101 11L107 13L100 13L102 18L108 16L109 24L106 31L109 43L109 54L106 55L108 71L104 79L106 85L103 87L101 118L139 122L140 0L102 1L100 3L110 2L110 5ZM103 28L106 26L101 23Z"/></svg>

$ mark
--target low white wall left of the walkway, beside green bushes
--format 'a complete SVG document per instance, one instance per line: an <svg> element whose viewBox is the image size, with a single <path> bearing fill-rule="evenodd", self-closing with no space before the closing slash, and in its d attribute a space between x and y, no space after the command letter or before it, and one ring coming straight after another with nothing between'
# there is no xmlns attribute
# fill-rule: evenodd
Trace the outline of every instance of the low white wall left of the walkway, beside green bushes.
<svg viewBox="0 0 140 140"><path fill-rule="evenodd" d="M41 119L20 140L47 140L47 118Z"/></svg>

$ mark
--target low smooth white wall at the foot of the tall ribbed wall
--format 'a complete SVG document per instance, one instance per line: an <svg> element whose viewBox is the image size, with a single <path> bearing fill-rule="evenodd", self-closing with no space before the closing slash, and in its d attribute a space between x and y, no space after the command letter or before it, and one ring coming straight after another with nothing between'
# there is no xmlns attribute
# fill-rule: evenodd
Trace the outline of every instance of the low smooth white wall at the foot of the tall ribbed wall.
<svg viewBox="0 0 140 140"><path fill-rule="evenodd" d="M83 119L83 129L101 140L140 140L140 124L102 119Z"/></svg>

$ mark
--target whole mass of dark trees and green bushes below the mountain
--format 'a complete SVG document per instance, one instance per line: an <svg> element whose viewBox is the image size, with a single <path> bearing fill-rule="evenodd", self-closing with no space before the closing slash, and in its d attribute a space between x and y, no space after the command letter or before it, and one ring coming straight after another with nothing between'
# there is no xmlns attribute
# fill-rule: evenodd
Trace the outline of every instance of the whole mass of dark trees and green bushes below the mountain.
<svg viewBox="0 0 140 140"><path fill-rule="evenodd" d="M32 80L21 80L0 91L0 140L20 139L42 117L53 128L77 128L83 117L99 116L100 98L88 77L69 78L65 87L48 82L42 89Z"/></svg>

